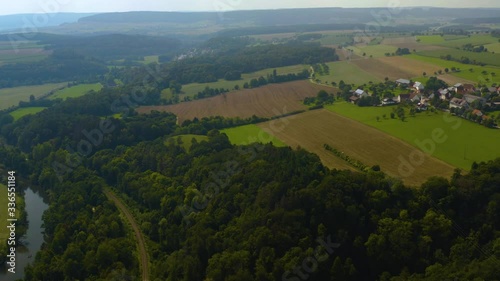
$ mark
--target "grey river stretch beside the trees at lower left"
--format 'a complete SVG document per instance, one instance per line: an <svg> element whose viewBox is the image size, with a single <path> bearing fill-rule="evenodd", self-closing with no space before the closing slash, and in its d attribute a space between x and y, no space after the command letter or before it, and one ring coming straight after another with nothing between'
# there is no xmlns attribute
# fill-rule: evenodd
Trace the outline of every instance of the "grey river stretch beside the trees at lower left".
<svg viewBox="0 0 500 281"><path fill-rule="evenodd" d="M0 267L0 280L15 281L24 278L24 268L33 261L43 243L42 214L49 207L39 192L28 188L24 193L28 230L21 238L23 246L16 249L16 273L7 272L7 266Z"/></svg>

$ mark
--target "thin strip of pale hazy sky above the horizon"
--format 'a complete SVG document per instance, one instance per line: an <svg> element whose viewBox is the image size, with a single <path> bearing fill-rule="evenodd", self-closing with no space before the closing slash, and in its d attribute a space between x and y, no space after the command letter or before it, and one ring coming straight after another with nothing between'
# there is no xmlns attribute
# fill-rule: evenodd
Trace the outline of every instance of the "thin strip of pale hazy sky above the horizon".
<svg viewBox="0 0 500 281"><path fill-rule="evenodd" d="M45 12L221 11L299 7L498 7L499 0L2 0L0 15Z"/></svg>

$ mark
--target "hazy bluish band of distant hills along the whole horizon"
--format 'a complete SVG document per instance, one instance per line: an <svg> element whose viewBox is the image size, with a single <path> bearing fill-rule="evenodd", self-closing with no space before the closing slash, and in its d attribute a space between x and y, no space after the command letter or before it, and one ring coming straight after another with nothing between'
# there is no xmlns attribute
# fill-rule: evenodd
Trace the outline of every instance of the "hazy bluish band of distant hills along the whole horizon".
<svg viewBox="0 0 500 281"><path fill-rule="evenodd" d="M227 28L314 24L366 24L381 26L424 25L464 19L495 18L500 9L412 8L310 8L241 10L226 12L119 12L101 14L48 14L0 16L0 31L37 27L41 32L60 34L200 34ZM42 22L44 24L36 24ZM46 22L46 23L45 23ZM64 23L64 24L63 24ZM133 26L132 26L133 25ZM330 27L329 27L330 28Z"/></svg>

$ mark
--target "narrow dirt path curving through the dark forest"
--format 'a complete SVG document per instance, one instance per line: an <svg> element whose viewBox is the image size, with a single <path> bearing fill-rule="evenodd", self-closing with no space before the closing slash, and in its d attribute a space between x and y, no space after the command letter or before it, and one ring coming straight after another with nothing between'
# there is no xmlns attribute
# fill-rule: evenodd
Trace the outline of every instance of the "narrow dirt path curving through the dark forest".
<svg viewBox="0 0 500 281"><path fill-rule="evenodd" d="M132 214L128 211L127 207L123 202L116 197L113 192L110 190L105 189L104 194L106 197L108 197L109 200L113 201L120 210L120 212L125 216L125 218L128 220L130 225L132 226L132 229L134 230L135 233L135 239L137 241L137 248L139 250L139 262L141 264L141 269L142 269L142 280L143 281L149 281L149 258L148 258L148 252L146 250L146 242L144 240L144 236L142 236L141 230L139 229L139 226L134 220L134 217Z"/></svg>

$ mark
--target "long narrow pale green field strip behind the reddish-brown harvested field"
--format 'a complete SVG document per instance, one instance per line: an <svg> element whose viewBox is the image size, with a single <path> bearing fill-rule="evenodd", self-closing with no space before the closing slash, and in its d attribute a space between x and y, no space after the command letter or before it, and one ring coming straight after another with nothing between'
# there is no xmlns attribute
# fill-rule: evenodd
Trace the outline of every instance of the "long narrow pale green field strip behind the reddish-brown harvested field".
<svg viewBox="0 0 500 281"><path fill-rule="evenodd" d="M253 73L245 73L242 74L241 80L237 81L227 81L224 79L219 79L217 82L212 82L212 83L191 83L187 85L182 85L182 94L179 96L180 99L182 100L184 97L189 96L193 97L196 95L198 92L203 91L206 87L210 88L224 88L228 90L234 89L235 85L238 85L240 88L243 88L243 84L245 82L250 83L250 80L252 79L257 79L260 76L266 77L267 74L272 74L273 70L276 69L276 72L278 74L289 74L289 73L299 73L304 69L309 69L308 65L292 65L292 66L285 66L285 67L276 67L276 68L268 68L260 71L256 71ZM162 91L162 98L170 98L171 97L171 92L169 89L165 89Z"/></svg>

